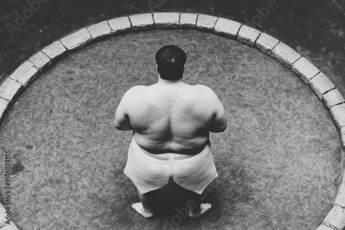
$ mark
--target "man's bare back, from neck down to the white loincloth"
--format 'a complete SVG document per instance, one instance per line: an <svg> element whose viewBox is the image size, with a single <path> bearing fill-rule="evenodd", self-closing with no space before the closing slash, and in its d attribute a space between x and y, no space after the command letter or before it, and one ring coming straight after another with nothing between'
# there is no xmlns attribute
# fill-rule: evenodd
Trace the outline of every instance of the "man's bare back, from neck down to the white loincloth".
<svg viewBox="0 0 345 230"><path fill-rule="evenodd" d="M226 129L224 107L213 90L182 81L132 87L117 113L127 116L140 147L154 154L197 154L209 132Z"/></svg>

